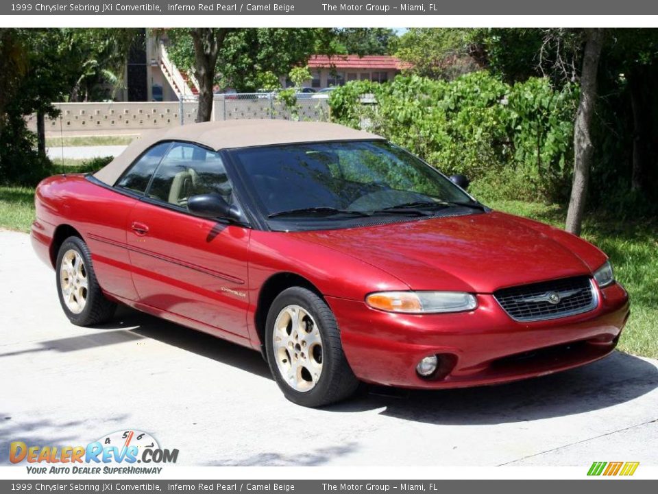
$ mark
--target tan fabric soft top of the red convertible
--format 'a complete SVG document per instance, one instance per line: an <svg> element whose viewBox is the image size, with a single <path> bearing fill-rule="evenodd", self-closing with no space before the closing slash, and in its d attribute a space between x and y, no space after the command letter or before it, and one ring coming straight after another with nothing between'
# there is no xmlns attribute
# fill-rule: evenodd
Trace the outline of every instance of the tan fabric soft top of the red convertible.
<svg viewBox="0 0 658 494"><path fill-rule="evenodd" d="M94 174L95 178L114 185L124 170L145 150L159 141L188 141L215 151L247 148L257 145L307 143L315 141L355 141L383 139L375 134L325 122L287 120L225 120L190 124L155 130L136 139L108 165Z"/></svg>

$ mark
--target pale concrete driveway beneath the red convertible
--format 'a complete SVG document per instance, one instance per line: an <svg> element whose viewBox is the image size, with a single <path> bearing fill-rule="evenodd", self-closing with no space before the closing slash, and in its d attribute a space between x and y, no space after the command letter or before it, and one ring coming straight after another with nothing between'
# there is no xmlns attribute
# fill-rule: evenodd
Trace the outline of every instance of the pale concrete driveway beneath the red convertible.
<svg viewBox="0 0 658 494"><path fill-rule="evenodd" d="M71 325L25 234L0 232L0 279L0 464L10 440L85 445L126 428L199 466L658 464L655 360L308 410L253 351L131 309Z"/></svg>

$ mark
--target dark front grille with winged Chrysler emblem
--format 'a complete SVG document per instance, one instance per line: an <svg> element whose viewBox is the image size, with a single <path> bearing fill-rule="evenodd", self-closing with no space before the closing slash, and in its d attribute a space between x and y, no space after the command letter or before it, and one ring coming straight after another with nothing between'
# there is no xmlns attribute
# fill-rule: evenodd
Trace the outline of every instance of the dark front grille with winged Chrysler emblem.
<svg viewBox="0 0 658 494"><path fill-rule="evenodd" d="M594 309L597 303L594 285L589 277L564 278L504 288L493 292L493 296L511 318L520 321L582 314Z"/></svg>

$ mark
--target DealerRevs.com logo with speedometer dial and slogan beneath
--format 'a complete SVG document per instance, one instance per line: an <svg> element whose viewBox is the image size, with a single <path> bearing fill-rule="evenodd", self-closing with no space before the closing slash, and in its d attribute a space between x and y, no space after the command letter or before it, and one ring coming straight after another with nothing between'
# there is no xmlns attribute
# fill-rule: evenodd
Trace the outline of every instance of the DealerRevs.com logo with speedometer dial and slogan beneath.
<svg viewBox="0 0 658 494"><path fill-rule="evenodd" d="M162 467L154 464L175 463L178 449L162 449L147 432L123 430L86 446L34 446L14 441L9 459L14 464L29 463L27 473L160 473ZM44 463L50 466L42 466Z"/></svg>

